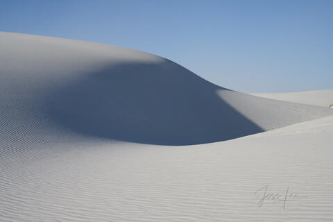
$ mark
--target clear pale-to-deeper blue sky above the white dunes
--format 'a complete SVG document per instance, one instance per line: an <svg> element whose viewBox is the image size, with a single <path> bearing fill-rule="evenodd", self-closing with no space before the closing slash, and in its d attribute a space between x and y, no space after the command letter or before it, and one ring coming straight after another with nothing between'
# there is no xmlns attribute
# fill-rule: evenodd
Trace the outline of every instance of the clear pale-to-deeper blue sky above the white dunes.
<svg viewBox="0 0 333 222"><path fill-rule="evenodd" d="M147 51L241 92L333 89L330 0L0 0L0 31Z"/></svg>

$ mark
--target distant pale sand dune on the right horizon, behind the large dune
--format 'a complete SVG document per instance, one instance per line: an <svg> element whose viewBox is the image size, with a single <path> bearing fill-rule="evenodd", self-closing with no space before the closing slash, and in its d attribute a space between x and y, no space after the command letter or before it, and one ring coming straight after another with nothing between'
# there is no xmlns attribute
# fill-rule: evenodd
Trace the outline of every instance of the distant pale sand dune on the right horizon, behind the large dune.
<svg viewBox="0 0 333 222"><path fill-rule="evenodd" d="M333 89L314 90L305 92L278 92L278 93L254 93L268 99L278 99L293 103L304 103L329 107L333 103Z"/></svg>

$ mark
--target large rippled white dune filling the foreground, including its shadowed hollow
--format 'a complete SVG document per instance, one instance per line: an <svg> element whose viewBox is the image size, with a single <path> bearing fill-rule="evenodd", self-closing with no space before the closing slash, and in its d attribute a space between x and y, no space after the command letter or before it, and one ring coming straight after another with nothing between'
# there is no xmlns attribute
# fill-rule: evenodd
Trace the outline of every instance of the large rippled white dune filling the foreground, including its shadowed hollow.
<svg viewBox="0 0 333 222"><path fill-rule="evenodd" d="M333 219L330 108L234 92L141 51L15 33L0 33L0 84L0 221ZM258 207L266 185L298 197Z"/></svg>

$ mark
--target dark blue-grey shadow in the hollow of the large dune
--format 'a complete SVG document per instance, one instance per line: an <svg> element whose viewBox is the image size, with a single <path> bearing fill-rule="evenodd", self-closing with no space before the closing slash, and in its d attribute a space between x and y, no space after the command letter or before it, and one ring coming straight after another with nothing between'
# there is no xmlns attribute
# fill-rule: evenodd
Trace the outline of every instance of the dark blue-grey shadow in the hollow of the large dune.
<svg viewBox="0 0 333 222"><path fill-rule="evenodd" d="M131 62L83 74L46 103L71 130L142 144L204 144L263 131L217 89L223 88L169 60Z"/></svg>

